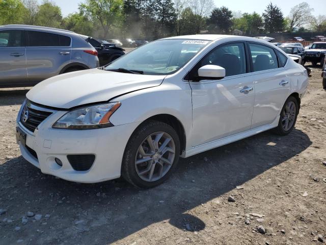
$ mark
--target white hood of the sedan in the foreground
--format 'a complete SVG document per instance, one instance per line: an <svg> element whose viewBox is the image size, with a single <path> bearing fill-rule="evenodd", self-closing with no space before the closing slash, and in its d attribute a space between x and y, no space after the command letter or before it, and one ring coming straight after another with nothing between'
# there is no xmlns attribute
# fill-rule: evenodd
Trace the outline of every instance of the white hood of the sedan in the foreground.
<svg viewBox="0 0 326 245"><path fill-rule="evenodd" d="M100 69L71 72L49 78L37 84L26 97L49 107L72 107L105 102L121 94L155 87L166 76L126 74Z"/></svg>

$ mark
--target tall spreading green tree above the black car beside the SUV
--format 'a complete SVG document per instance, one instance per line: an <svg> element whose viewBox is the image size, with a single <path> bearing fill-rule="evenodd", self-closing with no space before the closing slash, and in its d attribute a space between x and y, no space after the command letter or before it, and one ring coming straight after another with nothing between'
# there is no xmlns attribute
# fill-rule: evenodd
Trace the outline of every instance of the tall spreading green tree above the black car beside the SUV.
<svg viewBox="0 0 326 245"><path fill-rule="evenodd" d="M100 22L104 39L113 27L121 24L122 8L122 0L87 0L85 4L79 5L81 14Z"/></svg>

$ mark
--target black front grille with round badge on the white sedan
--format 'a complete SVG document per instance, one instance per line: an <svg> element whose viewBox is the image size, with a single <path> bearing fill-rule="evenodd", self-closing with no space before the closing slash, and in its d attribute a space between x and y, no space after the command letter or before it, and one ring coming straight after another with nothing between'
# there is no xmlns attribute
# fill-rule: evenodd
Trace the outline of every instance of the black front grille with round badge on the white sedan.
<svg viewBox="0 0 326 245"><path fill-rule="evenodd" d="M37 126L51 114L52 112L32 109L26 104L21 112L20 122L26 129L34 132Z"/></svg>

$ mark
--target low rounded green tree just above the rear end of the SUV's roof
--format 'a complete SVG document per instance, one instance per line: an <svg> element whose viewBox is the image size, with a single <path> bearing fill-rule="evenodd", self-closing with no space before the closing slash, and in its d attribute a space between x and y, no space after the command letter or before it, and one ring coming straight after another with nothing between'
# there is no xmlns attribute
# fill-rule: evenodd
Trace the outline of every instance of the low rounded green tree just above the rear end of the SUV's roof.
<svg viewBox="0 0 326 245"><path fill-rule="evenodd" d="M69 14L63 19L62 22L64 28L67 30L86 36L92 36L93 34L94 23L92 23L86 16L82 14Z"/></svg>

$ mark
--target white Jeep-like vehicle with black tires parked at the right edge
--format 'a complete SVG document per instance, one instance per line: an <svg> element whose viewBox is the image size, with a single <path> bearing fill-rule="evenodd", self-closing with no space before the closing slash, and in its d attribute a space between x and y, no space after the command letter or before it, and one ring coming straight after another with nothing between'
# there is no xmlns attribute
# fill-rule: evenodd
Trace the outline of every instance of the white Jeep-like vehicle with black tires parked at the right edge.
<svg viewBox="0 0 326 245"><path fill-rule="evenodd" d="M312 65L323 66L326 55L326 42L314 42L309 50L305 51L304 63L310 61Z"/></svg>

